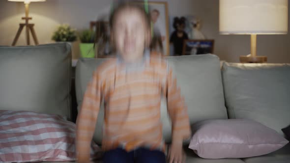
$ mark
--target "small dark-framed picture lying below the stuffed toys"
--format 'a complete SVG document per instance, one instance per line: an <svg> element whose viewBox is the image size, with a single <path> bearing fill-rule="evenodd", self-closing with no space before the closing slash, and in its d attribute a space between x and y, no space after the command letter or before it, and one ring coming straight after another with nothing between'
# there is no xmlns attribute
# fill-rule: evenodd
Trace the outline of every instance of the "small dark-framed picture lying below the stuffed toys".
<svg viewBox="0 0 290 163"><path fill-rule="evenodd" d="M184 40L182 55L213 54L214 40Z"/></svg>

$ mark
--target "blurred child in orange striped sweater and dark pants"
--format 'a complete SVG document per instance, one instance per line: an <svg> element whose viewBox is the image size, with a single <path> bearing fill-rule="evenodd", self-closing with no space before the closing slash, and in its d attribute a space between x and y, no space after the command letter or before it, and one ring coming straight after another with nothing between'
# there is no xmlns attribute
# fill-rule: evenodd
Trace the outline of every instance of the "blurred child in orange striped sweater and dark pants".
<svg viewBox="0 0 290 163"><path fill-rule="evenodd" d="M87 86L77 120L79 163L89 162L89 147L101 100L105 101L104 163L166 163L160 121L161 95L167 97L173 141L170 163L182 162L189 120L172 70L147 50L150 19L132 3L119 5L110 18L117 57L101 64Z"/></svg>

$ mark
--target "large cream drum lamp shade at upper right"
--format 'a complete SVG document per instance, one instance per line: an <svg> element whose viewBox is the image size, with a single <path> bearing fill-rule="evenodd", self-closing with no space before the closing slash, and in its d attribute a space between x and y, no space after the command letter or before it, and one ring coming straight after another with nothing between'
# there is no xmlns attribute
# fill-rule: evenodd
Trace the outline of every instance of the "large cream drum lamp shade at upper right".
<svg viewBox="0 0 290 163"><path fill-rule="evenodd" d="M287 34L288 0L220 0L220 34Z"/></svg>

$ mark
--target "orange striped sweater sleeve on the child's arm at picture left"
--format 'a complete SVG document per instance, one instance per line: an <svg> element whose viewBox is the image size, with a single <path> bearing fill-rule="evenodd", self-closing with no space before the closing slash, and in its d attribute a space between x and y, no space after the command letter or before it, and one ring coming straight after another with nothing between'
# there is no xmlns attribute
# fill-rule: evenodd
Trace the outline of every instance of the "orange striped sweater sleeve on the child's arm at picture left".
<svg viewBox="0 0 290 163"><path fill-rule="evenodd" d="M77 158L79 163L88 163L90 144L95 130L103 90L100 74L96 71L87 85L82 108L77 118Z"/></svg>

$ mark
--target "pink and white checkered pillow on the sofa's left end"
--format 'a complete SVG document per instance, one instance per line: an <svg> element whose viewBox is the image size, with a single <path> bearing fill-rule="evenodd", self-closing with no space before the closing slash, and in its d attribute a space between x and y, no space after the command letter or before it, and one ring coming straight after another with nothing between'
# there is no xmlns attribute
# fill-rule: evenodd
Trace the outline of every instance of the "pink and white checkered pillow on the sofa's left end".
<svg viewBox="0 0 290 163"><path fill-rule="evenodd" d="M75 161L75 133L60 115L0 110L0 162ZM99 156L97 145L91 154Z"/></svg>

